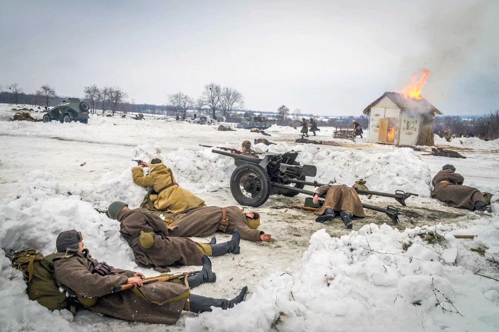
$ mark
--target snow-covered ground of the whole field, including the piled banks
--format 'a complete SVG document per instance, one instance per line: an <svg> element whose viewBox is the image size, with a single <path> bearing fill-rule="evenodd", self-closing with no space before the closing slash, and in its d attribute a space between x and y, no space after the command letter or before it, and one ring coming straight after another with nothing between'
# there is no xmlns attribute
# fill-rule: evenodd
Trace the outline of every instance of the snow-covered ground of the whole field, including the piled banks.
<svg viewBox="0 0 499 332"><path fill-rule="evenodd" d="M333 140L331 130L310 139L341 146L295 144L299 131L278 126L266 130L272 135L266 137L171 119L91 116L88 125L11 122L6 121L10 108L0 105L2 248L30 247L49 254L58 233L74 228L82 231L85 246L99 261L155 275L137 267L119 236L119 224L97 211L114 200L132 207L142 201L146 189L132 182L131 159L161 155L179 184L208 205L237 205L229 189L232 159L199 144L239 149L243 140L255 138L277 143L256 145L260 152L299 151L301 164L317 166L314 179L319 182L352 185L364 178L371 190L417 193L407 200L407 208L420 216L401 216L393 225L386 215L366 210L366 218L349 231L336 219L318 224L308 212L272 208L301 205L303 194L270 196L251 209L261 213L260 228L272 234L272 240L242 241L240 255L213 258L217 282L193 290L230 298L248 285L246 302L229 311L184 313L173 327L134 324L88 311L74 317L66 311L51 313L28 300L21 274L0 251L0 331L499 329L499 282L494 280L499 279L499 141L460 139L461 145L459 140L449 144L436 139L437 145L466 148L460 153L467 159L449 159L373 145L366 138L355 143ZM454 209L429 196L432 176L448 163L465 176L465 184L496 194L492 213ZM390 198L361 199L384 207L398 205ZM452 234L478 237L458 240ZM225 241L229 236L216 237Z"/></svg>

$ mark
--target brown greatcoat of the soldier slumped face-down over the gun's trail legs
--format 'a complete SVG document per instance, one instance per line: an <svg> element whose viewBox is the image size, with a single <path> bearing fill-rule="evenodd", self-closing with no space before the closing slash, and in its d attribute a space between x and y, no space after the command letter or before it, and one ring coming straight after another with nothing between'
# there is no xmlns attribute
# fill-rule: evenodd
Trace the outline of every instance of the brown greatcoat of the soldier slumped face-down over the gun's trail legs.
<svg viewBox="0 0 499 332"><path fill-rule="evenodd" d="M364 208L359 195L355 189L345 184L328 186L322 185L315 190L314 195L319 197L326 194L324 205L315 212L316 215L323 215L326 208L330 207L335 211L350 211L354 217L364 218Z"/></svg>

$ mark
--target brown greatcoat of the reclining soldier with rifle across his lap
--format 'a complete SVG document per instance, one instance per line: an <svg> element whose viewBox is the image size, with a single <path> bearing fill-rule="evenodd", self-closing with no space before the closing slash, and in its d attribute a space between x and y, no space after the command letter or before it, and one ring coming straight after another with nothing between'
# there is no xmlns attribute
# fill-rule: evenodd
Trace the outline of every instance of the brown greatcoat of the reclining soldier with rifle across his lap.
<svg viewBox="0 0 499 332"><path fill-rule="evenodd" d="M64 258L66 254L72 256ZM87 307L92 312L143 323L175 324L177 322L185 307L187 297L159 306L146 302L132 290L109 294L112 287L126 284L128 278L133 277L134 272L115 269L111 266L111 273L107 276L92 274L97 264L98 262L91 258L87 249L83 252L68 249L67 253L55 255L55 279L72 295L78 294L87 298L99 297L94 306ZM144 285L140 289L150 300L160 303L189 290L186 286L169 282Z"/></svg>

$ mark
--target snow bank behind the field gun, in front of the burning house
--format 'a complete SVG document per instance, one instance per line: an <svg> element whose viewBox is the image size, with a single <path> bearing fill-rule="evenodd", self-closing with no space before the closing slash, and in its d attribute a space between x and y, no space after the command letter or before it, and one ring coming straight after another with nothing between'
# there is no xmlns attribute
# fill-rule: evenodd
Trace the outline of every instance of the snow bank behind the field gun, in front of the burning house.
<svg viewBox="0 0 499 332"><path fill-rule="evenodd" d="M388 153L372 153L358 150L331 151L327 148L304 144L289 146L287 143L265 146L256 144L258 152L271 153L299 151L296 159L301 165L317 167L315 180L322 183L333 181L352 185L360 178L367 180L370 190L394 192L404 190L429 196L431 174L428 166L410 148L400 148Z"/></svg>

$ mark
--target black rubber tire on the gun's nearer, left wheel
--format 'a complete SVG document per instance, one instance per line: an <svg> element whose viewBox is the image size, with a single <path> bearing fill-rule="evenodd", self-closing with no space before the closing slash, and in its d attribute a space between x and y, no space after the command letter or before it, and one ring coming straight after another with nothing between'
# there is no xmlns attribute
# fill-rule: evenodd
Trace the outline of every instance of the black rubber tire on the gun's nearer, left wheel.
<svg viewBox="0 0 499 332"><path fill-rule="evenodd" d="M254 172L260 180L260 192L253 198L246 197L239 189L239 181L241 176L247 172ZM270 177L265 169L253 163L247 163L237 166L231 176L231 192L236 201L245 206L257 207L265 203L270 195Z"/></svg>

